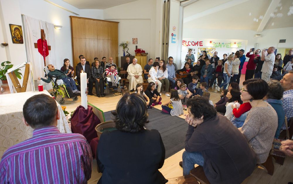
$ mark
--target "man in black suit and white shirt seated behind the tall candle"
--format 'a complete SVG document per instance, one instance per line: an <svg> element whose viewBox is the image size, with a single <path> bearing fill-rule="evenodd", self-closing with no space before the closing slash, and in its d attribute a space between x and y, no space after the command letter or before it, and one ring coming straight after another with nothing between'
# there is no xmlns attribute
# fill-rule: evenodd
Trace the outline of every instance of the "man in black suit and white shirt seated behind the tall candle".
<svg viewBox="0 0 293 184"><path fill-rule="evenodd" d="M86 64L86 58L80 58L80 64L77 64L75 67L76 71L76 80L80 85L80 73L84 71L86 73L87 83L88 83L88 95L93 95L93 79L91 78L91 67L90 65Z"/></svg>

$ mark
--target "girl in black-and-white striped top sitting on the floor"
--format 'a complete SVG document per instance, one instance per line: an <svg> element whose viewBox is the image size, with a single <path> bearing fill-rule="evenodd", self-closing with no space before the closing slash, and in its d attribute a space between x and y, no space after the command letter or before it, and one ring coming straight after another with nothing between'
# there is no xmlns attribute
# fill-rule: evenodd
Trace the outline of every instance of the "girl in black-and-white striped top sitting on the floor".
<svg viewBox="0 0 293 184"><path fill-rule="evenodd" d="M173 109L169 108L169 103L172 103ZM178 91L176 89L171 89L170 100L162 105L162 111L164 113L171 114L172 116L180 116L183 113L182 102L178 96Z"/></svg>

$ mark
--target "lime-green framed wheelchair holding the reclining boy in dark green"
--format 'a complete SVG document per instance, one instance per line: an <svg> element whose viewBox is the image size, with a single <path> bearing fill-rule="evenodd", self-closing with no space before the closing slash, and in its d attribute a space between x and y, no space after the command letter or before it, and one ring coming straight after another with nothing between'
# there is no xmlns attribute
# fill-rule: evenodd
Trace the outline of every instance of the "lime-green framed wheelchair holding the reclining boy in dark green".
<svg viewBox="0 0 293 184"><path fill-rule="evenodd" d="M47 72L44 68L45 77L48 79L48 77L51 77L51 84L53 86L53 91L50 92L51 96L54 96L55 100L58 96L61 98L59 100L59 104L63 105L65 104L65 96L67 98L72 98L72 100L75 102L78 100L78 96L80 96L80 93L73 93L73 89L71 87L67 87L63 80L58 79L58 77L47 75ZM76 84L76 83L75 83ZM80 91L80 86L76 84L77 89Z"/></svg>

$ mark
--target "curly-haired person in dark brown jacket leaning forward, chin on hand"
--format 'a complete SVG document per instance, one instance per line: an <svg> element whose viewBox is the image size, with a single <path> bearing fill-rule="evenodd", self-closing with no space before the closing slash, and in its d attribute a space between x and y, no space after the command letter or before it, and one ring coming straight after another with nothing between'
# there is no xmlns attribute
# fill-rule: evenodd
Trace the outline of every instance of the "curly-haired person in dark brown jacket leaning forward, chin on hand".
<svg viewBox="0 0 293 184"><path fill-rule="evenodd" d="M210 183L241 183L250 176L256 156L237 128L204 97L188 100L187 107L183 175L198 164Z"/></svg>

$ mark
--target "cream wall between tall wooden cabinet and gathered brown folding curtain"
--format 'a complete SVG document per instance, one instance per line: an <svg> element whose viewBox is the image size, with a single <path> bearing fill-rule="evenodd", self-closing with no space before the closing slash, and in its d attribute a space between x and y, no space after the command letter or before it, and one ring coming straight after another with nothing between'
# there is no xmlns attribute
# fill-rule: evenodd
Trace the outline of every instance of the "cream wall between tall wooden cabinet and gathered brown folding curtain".
<svg viewBox="0 0 293 184"><path fill-rule="evenodd" d="M159 1L157 3L157 1ZM119 6L104 9L104 19L120 22L118 24L118 43L129 41L129 53L135 55L135 45L132 44L132 38L137 38L138 48L149 53L148 58L160 57L158 50L161 47L160 34L161 24L156 16L157 4L161 0L138 0ZM159 38L159 39L157 39ZM122 49L118 49L118 60L123 56Z"/></svg>

